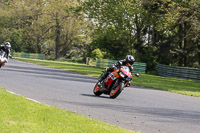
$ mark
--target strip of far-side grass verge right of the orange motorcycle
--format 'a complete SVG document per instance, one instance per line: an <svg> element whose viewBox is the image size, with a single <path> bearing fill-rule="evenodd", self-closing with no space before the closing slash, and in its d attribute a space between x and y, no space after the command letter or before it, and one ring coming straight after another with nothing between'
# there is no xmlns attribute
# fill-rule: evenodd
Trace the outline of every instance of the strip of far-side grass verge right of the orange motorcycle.
<svg viewBox="0 0 200 133"><path fill-rule="evenodd" d="M133 84L141 87L200 97L200 82L198 81L141 74L139 78L134 78Z"/></svg>

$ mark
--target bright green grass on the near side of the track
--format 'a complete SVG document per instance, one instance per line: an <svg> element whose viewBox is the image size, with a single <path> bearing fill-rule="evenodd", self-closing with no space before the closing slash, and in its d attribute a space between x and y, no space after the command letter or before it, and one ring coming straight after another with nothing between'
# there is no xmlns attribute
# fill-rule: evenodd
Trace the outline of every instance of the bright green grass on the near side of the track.
<svg viewBox="0 0 200 133"><path fill-rule="evenodd" d="M0 88L2 133L129 133L132 131L36 103Z"/></svg>

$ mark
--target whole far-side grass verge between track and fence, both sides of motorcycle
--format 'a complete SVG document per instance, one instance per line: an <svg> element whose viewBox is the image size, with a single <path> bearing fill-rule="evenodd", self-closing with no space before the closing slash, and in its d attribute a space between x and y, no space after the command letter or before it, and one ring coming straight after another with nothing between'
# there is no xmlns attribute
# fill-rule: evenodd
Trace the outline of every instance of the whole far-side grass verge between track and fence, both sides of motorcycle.
<svg viewBox="0 0 200 133"><path fill-rule="evenodd" d="M17 60L62 70L73 71L93 77L99 77L101 71L104 70L92 66L87 66L85 64L71 63L67 61L63 62L48 60L31 60L24 58L17 58ZM133 78L132 84L141 87L154 88L189 96L200 97L200 82L198 81L161 77L149 74L140 74L139 78Z"/></svg>

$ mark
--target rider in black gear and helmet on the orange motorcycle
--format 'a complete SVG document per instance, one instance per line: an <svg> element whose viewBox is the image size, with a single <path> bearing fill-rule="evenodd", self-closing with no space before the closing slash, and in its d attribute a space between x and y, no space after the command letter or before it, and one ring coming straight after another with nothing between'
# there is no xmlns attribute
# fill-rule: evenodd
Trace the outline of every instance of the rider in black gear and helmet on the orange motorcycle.
<svg viewBox="0 0 200 133"><path fill-rule="evenodd" d="M135 58L132 55L127 55L126 58L124 60L120 60L118 61L116 64L111 65L111 67L106 68L105 73L100 77L100 79L98 80L99 84L102 80L104 80L109 73L113 72L114 69L116 68L121 68L122 66L128 66L130 69L130 72L133 72L133 64L135 62Z"/></svg>

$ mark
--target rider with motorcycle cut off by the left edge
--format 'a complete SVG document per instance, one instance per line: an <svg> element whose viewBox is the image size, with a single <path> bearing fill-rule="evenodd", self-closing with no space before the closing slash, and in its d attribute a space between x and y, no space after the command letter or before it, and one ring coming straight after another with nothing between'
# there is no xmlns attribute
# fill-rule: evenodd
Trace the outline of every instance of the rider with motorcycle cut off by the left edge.
<svg viewBox="0 0 200 133"><path fill-rule="evenodd" d="M9 42L6 42L4 45L0 46L0 51L1 51L0 61L3 62L3 65L6 62L8 62L8 57L11 57L10 48L11 48L11 44Z"/></svg>

